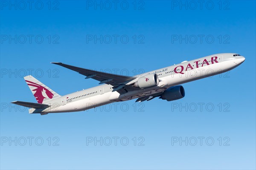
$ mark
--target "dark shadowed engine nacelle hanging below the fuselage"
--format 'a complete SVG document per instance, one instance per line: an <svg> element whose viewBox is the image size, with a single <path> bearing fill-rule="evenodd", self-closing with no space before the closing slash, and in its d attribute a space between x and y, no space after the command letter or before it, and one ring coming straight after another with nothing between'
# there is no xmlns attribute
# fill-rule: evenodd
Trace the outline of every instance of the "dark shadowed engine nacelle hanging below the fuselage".
<svg viewBox="0 0 256 170"><path fill-rule="evenodd" d="M185 96L185 90L181 85L177 85L163 91L163 94L160 96L160 99L173 101L181 99Z"/></svg>

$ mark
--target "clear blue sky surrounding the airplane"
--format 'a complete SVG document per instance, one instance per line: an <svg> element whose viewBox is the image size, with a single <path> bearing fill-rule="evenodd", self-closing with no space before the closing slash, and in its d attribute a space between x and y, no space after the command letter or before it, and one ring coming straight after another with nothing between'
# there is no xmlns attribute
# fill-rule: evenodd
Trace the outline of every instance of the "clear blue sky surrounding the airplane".
<svg viewBox="0 0 256 170"><path fill-rule="evenodd" d="M255 1L0 2L0 169L256 168ZM10 104L36 102L30 73L60 95L98 84L50 62L133 76L226 52L246 60L173 102L46 116Z"/></svg>

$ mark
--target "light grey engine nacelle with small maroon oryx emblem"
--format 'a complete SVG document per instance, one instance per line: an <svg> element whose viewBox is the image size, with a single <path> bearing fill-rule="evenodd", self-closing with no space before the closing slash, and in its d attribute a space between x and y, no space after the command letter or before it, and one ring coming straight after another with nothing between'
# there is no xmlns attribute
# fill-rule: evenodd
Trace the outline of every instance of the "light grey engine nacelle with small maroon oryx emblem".
<svg viewBox="0 0 256 170"><path fill-rule="evenodd" d="M151 88L159 84L159 79L157 74L148 74L144 77L140 77L135 83L134 86L137 88Z"/></svg>

